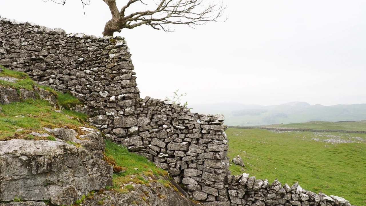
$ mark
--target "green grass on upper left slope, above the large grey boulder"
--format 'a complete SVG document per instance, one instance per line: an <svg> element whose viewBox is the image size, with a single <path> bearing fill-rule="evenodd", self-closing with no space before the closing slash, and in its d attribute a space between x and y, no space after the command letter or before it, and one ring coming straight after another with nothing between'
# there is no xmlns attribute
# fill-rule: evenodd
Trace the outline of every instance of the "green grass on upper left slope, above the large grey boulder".
<svg viewBox="0 0 366 206"><path fill-rule="evenodd" d="M25 88L33 90L36 83L31 80L27 74L18 71L3 69L0 76L19 78L15 83L0 81L0 85L12 87L16 89ZM39 86L53 93L59 104L70 105L71 102L80 103L78 99L70 94L57 94L52 88ZM0 112L0 140L9 139L49 139L55 140L54 137L34 137L29 135L31 132L45 132L43 127L56 128L66 126L67 128L77 128L84 126L87 115L76 113L75 111L63 110L58 113L46 100L27 99L23 102L12 102L10 104L1 105ZM68 116L66 116L66 115Z"/></svg>

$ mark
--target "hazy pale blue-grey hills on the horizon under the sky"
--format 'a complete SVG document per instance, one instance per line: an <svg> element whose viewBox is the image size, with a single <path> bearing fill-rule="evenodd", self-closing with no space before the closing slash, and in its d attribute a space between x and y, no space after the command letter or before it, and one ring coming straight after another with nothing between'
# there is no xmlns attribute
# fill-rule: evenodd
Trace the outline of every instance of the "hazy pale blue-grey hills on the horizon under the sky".
<svg viewBox="0 0 366 206"><path fill-rule="evenodd" d="M323 106L306 102L289 102L280 105L214 103L188 105L192 112L224 114L229 126L291 124L308 121L359 121L366 119L366 104L337 104Z"/></svg>

